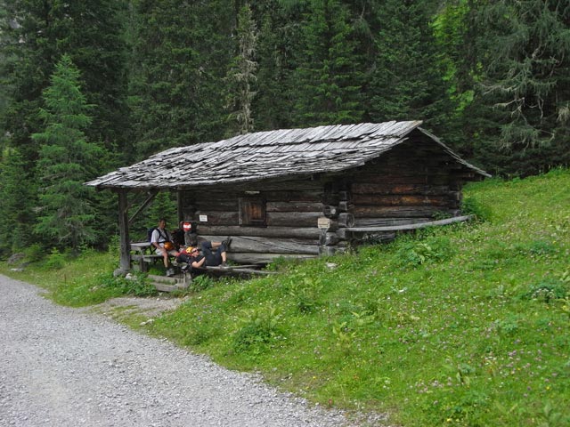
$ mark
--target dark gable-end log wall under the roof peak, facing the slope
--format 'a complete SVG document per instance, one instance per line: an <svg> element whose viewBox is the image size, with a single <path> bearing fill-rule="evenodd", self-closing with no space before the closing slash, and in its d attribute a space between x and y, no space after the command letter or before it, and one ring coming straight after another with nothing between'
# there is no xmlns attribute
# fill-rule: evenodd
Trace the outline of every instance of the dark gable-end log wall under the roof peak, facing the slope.
<svg viewBox="0 0 570 427"><path fill-rule="evenodd" d="M456 216L460 214L464 173L444 150L412 137L347 177L355 226L391 226Z"/></svg>

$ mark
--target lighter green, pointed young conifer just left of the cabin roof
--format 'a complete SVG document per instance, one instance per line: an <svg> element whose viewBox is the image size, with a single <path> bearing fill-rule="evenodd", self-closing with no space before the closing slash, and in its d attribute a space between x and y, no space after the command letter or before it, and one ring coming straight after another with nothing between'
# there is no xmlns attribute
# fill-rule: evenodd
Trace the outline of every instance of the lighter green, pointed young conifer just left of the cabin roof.
<svg viewBox="0 0 570 427"><path fill-rule="evenodd" d="M104 157L101 147L85 139L84 130L92 123L88 116L91 106L81 93L79 80L79 70L69 56L63 55L51 85L44 91L45 108L40 110L40 117L45 130L32 135L40 144L37 236L51 239L55 247L74 251L94 242L97 236L90 203L94 189L84 182L96 176Z"/></svg>

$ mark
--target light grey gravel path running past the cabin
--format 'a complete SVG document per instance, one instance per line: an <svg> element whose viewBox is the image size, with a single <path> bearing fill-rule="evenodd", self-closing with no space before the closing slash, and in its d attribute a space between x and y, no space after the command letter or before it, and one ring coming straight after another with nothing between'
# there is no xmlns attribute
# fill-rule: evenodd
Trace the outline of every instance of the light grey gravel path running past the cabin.
<svg viewBox="0 0 570 427"><path fill-rule="evenodd" d="M0 426L371 425L2 275L0 334Z"/></svg>

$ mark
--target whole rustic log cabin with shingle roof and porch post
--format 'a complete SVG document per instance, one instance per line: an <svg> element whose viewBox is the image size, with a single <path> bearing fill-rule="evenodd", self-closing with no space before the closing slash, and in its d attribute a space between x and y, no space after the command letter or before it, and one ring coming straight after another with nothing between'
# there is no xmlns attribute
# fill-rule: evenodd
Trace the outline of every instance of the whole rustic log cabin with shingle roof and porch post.
<svg viewBox="0 0 570 427"><path fill-rule="evenodd" d="M167 149L87 185L118 193L122 270L131 261L128 191L150 194L141 212L159 190L175 190L179 220L198 224L200 238L232 236L234 262L334 254L370 236L465 219L462 185L489 175L420 125L248 133Z"/></svg>

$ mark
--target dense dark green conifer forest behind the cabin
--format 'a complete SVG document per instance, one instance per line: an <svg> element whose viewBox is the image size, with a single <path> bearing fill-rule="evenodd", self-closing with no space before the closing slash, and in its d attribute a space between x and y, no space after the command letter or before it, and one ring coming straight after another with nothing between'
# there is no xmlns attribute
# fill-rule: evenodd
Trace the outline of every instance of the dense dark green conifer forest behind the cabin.
<svg viewBox="0 0 570 427"><path fill-rule="evenodd" d="M568 0L0 0L0 79L4 258L108 246L85 181L239 133L423 120L494 176L570 160Z"/></svg>

